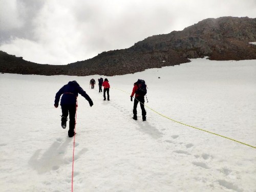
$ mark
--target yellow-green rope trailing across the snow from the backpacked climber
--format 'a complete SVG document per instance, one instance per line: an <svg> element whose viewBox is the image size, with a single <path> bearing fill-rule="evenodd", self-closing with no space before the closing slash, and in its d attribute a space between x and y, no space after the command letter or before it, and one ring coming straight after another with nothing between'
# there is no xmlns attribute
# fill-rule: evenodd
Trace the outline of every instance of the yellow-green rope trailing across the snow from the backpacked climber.
<svg viewBox="0 0 256 192"><path fill-rule="evenodd" d="M122 91L122 92L124 92L124 93L129 94L128 92L123 91L123 90L120 90L120 89L117 89L117 88L112 88L112 89L116 89L116 90L119 90L119 91ZM136 98L135 98L135 99L136 99ZM140 102L140 101L139 101L139 102ZM141 102L140 102L140 103L141 103ZM182 125L189 126L189 127L192 127L192 128L194 128L194 129L197 129L197 130L200 130L200 131L203 131L203 132L207 132L207 133L210 133L210 134L213 134L213 135L217 135L217 136L220 136L220 137L229 139L229 140L231 140L231 141L235 141L235 142L238 142L238 143L240 143L240 144L244 144L244 145L247 145L247 146L249 146L249 147L256 148L256 146L252 146L252 145L243 143L243 142L241 142L241 141L238 141L238 140L235 140L235 139L232 139L232 138L229 138L229 137L220 135L220 134L216 134L216 133L213 133L213 132L210 132L210 131L206 131L206 130L200 129L200 128L196 127L196 126L191 126L191 125L188 125L188 124L185 124L185 123L176 121L176 120L174 120L174 119L172 119L172 118L169 118L169 117L167 117L167 116L165 116L165 115L163 115L163 114L161 114L161 113L159 113L159 112L153 110L152 108L150 108L149 106L145 105L144 103L142 103L142 104L143 104L144 106L146 106L148 109L150 109L151 111L157 113L158 115L160 115L160 116L162 116L162 117L164 117L164 118L166 118L166 119L169 119L169 120L171 120L171 121L174 121L174 122L176 122L176 123L180 123L180 124L182 124Z"/></svg>

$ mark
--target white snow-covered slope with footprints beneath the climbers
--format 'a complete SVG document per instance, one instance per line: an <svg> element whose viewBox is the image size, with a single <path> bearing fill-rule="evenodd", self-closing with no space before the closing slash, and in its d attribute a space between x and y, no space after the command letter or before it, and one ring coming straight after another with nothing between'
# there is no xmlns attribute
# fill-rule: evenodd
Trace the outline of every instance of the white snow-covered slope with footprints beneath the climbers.
<svg viewBox="0 0 256 192"><path fill-rule="evenodd" d="M71 191L74 138L53 106L70 80L94 102L78 97L74 191L256 191L255 148L156 113L256 146L256 60L191 59L107 77L110 101L89 88L99 77L0 74L1 191ZM132 119L138 78L156 111L146 108L144 122L139 106Z"/></svg>

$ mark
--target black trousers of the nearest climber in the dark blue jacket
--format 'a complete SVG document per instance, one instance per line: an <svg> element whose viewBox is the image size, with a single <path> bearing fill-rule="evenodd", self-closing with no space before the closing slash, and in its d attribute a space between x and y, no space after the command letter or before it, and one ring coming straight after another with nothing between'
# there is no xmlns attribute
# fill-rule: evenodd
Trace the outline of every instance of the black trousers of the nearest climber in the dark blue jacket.
<svg viewBox="0 0 256 192"><path fill-rule="evenodd" d="M62 117L68 117L69 115L69 130L75 129L75 116L76 116L76 104L61 105Z"/></svg>

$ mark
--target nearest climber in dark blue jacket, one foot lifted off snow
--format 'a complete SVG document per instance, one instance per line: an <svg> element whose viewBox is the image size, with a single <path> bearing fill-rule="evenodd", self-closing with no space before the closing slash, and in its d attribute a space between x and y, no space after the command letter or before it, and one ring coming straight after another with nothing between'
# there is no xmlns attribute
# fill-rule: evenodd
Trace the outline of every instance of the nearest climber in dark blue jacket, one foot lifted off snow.
<svg viewBox="0 0 256 192"><path fill-rule="evenodd" d="M74 136L74 129L75 129L75 115L76 115L76 99L78 97L78 93L82 95L86 100L88 100L90 106L93 105L92 99L87 95L85 91L79 86L79 84L76 81L70 81L68 84L63 86L55 96L54 106L55 108L59 105L59 98L61 97L60 106L61 106L61 126L63 129L67 126L67 118L69 115L69 131L68 135L69 137Z"/></svg>

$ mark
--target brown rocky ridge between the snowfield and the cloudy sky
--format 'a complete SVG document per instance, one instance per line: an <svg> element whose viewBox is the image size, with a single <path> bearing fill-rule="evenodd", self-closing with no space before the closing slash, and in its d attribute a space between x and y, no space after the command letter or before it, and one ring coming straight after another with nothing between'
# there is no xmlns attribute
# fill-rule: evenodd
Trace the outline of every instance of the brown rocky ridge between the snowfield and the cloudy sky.
<svg viewBox="0 0 256 192"><path fill-rule="evenodd" d="M123 75L150 68L174 66L189 58L256 59L256 18L207 18L182 31L154 35L134 46L70 63L42 65L0 51L0 72L38 75Z"/></svg>

